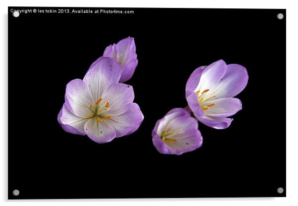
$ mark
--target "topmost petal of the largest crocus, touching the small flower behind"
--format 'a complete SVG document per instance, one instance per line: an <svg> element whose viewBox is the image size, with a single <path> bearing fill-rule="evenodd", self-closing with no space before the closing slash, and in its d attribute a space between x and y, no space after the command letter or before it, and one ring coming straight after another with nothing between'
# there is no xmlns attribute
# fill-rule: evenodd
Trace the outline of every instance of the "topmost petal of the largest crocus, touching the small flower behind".
<svg viewBox="0 0 298 206"><path fill-rule="evenodd" d="M102 57L86 73L83 81L91 91L95 101L110 85L118 83L121 76L121 68L117 61L110 57Z"/></svg>

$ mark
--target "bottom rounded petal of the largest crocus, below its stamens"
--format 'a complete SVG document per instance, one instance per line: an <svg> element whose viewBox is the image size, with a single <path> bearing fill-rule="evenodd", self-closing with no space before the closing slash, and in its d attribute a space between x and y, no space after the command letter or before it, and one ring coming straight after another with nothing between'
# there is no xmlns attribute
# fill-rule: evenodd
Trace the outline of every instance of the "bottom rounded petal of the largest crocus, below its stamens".
<svg viewBox="0 0 298 206"><path fill-rule="evenodd" d="M97 122L96 118L88 119L84 129L90 139L100 144L110 142L116 136L116 131L107 121Z"/></svg>

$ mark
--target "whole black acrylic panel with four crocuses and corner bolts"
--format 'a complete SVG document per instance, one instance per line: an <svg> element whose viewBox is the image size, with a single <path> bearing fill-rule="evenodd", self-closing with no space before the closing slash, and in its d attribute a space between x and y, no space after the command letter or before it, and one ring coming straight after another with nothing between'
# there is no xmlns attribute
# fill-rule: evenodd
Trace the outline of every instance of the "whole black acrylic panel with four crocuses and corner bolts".
<svg viewBox="0 0 298 206"><path fill-rule="evenodd" d="M8 7L7 118L8 199L286 197L286 10Z"/></svg>

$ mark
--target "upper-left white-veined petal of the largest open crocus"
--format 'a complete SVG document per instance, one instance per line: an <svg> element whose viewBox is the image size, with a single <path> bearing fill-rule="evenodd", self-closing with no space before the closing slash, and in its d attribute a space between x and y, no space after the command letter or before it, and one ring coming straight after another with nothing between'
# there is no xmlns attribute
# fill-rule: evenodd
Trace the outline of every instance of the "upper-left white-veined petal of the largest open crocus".
<svg viewBox="0 0 298 206"><path fill-rule="evenodd" d="M65 104L71 113L86 118L92 115L89 108L94 99L81 79L74 79L66 85Z"/></svg>

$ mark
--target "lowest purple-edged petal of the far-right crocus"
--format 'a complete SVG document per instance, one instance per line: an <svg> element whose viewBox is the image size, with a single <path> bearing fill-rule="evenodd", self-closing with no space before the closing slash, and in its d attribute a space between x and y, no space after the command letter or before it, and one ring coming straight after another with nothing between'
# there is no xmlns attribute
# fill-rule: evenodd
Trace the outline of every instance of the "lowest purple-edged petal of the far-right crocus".
<svg viewBox="0 0 298 206"><path fill-rule="evenodd" d="M226 117L211 117L211 116L203 116L198 118L198 120L214 129L226 129L230 126L233 119L226 118Z"/></svg>

